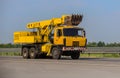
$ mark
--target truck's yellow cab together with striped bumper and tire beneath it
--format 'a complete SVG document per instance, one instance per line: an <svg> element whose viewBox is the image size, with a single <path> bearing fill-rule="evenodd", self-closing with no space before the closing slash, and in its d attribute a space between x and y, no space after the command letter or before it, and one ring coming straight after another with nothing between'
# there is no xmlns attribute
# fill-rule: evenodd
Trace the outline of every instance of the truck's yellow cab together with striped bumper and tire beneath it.
<svg viewBox="0 0 120 78"><path fill-rule="evenodd" d="M78 59L80 52L86 48L86 33L76 26L61 26L54 28L54 46L59 46L62 55Z"/></svg>

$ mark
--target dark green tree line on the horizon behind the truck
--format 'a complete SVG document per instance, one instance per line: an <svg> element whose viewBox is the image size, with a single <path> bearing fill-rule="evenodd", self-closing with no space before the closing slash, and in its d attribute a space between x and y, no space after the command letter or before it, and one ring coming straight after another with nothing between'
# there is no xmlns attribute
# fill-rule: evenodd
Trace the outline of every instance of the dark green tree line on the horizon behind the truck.
<svg viewBox="0 0 120 78"><path fill-rule="evenodd" d="M6 43L6 44L0 44L0 48L20 48L20 44L12 44L12 43ZM87 47L120 47L120 43L105 43L103 41L99 42L88 42Z"/></svg>

